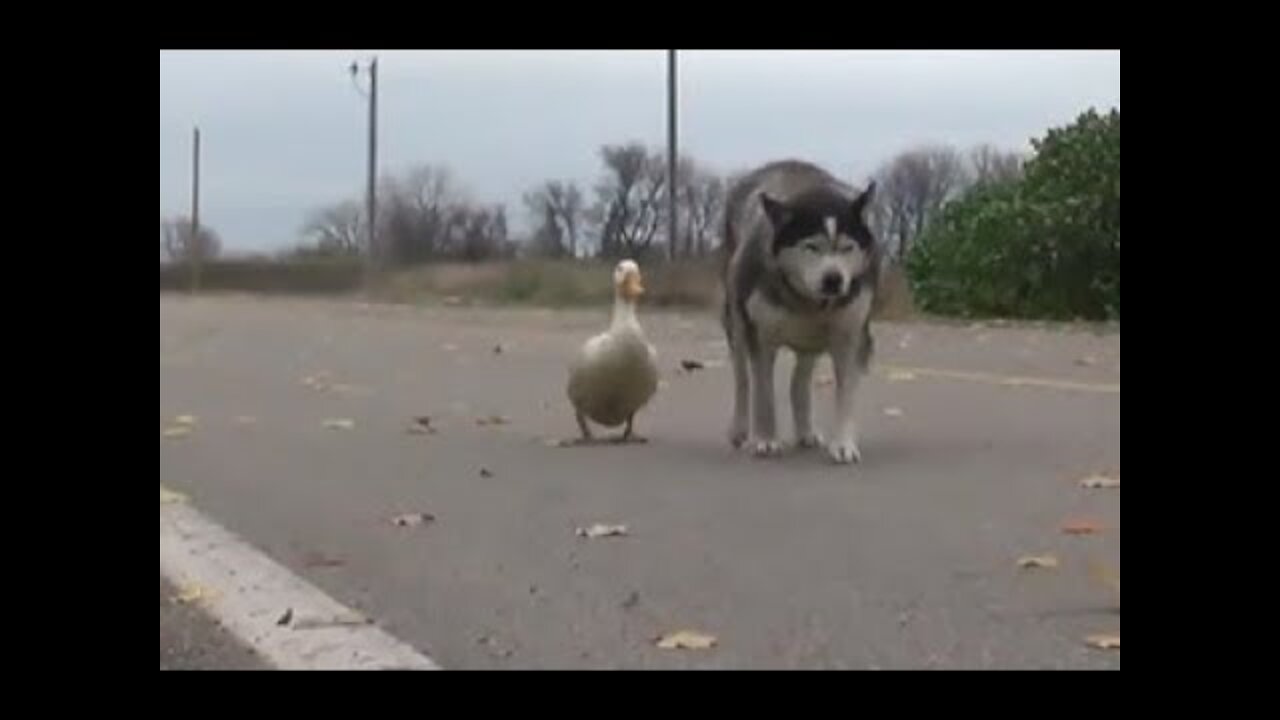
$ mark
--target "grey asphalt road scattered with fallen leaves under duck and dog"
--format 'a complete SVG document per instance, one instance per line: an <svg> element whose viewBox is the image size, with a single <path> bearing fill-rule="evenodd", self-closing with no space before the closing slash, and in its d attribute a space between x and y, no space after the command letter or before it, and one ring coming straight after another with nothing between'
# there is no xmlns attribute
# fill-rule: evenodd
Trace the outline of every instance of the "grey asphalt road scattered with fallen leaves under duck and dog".
<svg viewBox="0 0 1280 720"><path fill-rule="evenodd" d="M161 295L161 429L195 425L161 437L160 482L444 667L1120 667L1084 642L1119 634L1091 569L1119 574L1120 491L1079 487L1119 477L1117 331L881 325L864 460L836 466L728 447L712 313L641 313L649 445L554 447L607 318ZM826 428L831 388L815 405ZM164 628L161 602L161 666ZM717 644L655 647L681 629Z"/></svg>

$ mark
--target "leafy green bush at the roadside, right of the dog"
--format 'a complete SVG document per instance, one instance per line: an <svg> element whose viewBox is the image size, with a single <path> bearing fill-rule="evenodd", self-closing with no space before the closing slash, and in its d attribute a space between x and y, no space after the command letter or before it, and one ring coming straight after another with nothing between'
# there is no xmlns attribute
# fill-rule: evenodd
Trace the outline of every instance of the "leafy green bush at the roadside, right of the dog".
<svg viewBox="0 0 1280 720"><path fill-rule="evenodd" d="M1120 318L1120 111L1032 145L1021 179L972 188L925 228L906 264L919 307Z"/></svg>

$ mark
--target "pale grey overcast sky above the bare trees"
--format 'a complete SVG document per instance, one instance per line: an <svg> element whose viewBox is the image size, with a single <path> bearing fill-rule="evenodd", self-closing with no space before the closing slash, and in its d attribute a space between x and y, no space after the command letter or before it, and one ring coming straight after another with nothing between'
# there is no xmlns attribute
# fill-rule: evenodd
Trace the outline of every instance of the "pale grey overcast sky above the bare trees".
<svg viewBox="0 0 1280 720"><path fill-rule="evenodd" d="M306 213L360 199L371 51L161 51L160 214L186 213L191 128L201 217L232 251L298 240ZM666 51L379 51L384 170L445 164L476 200L599 174L598 149L666 142ZM681 51L680 142L718 172L791 156L861 182L924 142L1028 140L1120 106L1119 51Z"/></svg>

